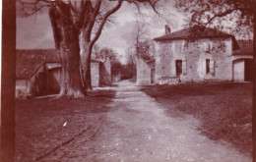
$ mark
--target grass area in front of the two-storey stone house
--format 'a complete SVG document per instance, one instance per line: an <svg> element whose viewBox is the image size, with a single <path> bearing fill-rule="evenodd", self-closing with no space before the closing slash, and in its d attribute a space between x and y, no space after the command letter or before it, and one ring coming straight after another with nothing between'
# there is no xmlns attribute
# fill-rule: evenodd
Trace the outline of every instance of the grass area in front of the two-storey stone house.
<svg viewBox="0 0 256 162"><path fill-rule="evenodd" d="M203 135L252 154L252 83L197 82L142 88L172 117L192 115Z"/></svg>

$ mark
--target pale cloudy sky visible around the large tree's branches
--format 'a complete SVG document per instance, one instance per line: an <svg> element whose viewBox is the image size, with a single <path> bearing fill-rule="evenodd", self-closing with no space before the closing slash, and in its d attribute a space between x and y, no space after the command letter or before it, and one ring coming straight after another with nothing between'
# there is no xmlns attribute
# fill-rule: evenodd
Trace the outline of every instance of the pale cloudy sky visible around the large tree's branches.
<svg viewBox="0 0 256 162"><path fill-rule="evenodd" d="M113 15L114 23L105 27L97 40L101 47L106 46L125 55L125 49L131 42L131 34L139 19L136 7L123 3L122 7ZM168 1L164 8L164 17L168 22L159 19L153 10L143 9L145 20L149 26L149 38L164 34L164 25L168 24L171 31L181 29L184 22L181 13L178 13L173 4ZM163 12L161 12L163 13ZM38 13L29 18L17 17L17 49L47 49L54 48L54 40L47 12Z"/></svg>

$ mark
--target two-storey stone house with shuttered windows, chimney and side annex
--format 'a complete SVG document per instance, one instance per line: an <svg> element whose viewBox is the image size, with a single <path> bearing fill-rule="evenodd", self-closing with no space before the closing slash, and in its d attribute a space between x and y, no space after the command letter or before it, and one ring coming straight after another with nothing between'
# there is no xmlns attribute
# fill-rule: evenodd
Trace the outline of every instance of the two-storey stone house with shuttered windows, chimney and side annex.
<svg viewBox="0 0 256 162"><path fill-rule="evenodd" d="M154 40L157 44L155 81L251 80L251 41L237 41L233 35L210 27L189 27L174 32L165 27L165 34ZM148 73L147 68L137 72ZM147 73L139 73L138 78L149 82Z"/></svg>

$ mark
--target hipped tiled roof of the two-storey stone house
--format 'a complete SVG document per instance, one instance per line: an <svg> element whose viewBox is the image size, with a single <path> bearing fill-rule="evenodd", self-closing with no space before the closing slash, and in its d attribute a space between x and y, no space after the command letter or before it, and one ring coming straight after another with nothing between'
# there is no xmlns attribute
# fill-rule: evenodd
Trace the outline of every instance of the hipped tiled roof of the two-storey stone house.
<svg viewBox="0 0 256 162"><path fill-rule="evenodd" d="M210 27L189 27L168 34L156 37L156 41L177 40L177 39L198 39L198 38L215 38L215 37L233 37L229 33L225 33Z"/></svg>

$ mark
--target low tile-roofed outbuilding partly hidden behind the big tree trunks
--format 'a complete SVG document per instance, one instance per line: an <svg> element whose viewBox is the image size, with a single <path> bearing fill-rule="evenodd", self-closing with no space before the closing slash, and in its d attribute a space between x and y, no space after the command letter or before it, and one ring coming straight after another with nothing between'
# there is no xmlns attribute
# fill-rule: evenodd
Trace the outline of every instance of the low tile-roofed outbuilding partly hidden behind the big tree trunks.
<svg viewBox="0 0 256 162"><path fill-rule="evenodd" d="M105 79L100 81L102 80L100 76L107 74L105 71L109 70L105 70L105 68L109 67L108 64L107 61L92 59L93 87L106 81ZM58 93L60 90L60 69L61 64L54 49L17 50L16 97Z"/></svg>

